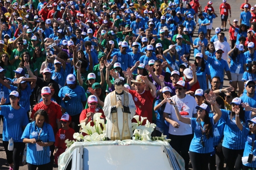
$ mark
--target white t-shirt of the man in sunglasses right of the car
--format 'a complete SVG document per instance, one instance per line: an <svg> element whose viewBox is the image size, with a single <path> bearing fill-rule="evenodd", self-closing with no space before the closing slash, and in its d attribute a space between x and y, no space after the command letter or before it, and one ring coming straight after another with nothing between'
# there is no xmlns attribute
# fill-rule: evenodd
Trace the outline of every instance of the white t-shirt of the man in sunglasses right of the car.
<svg viewBox="0 0 256 170"><path fill-rule="evenodd" d="M188 115L182 115L182 117L188 117L192 118L193 114L197 113L196 106L197 102L195 101L195 98L189 95L186 95L183 99L180 99L177 97L177 95L171 97L172 100L174 100L178 106L178 110L181 113L181 108L183 108L183 112L187 112ZM172 106L170 103L166 103L165 106L165 113L168 113L170 119L174 120L179 124L179 128L174 128L172 124L169 126L169 133L171 135L190 135L192 134L192 127L190 124L185 124L177 119L174 106Z"/></svg>

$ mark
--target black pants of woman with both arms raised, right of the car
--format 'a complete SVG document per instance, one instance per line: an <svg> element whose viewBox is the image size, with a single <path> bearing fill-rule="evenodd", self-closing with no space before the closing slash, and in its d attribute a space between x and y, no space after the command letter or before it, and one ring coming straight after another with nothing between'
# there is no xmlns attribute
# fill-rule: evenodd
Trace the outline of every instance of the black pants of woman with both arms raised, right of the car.
<svg viewBox="0 0 256 170"><path fill-rule="evenodd" d="M201 154L189 151L193 170L207 170L211 153Z"/></svg>

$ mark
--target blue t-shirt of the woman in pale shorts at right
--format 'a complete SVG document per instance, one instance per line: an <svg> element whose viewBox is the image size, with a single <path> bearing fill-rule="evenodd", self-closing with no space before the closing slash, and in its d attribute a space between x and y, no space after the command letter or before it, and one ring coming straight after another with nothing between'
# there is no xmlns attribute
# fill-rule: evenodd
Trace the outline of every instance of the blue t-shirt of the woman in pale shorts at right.
<svg viewBox="0 0 256 170"><path fill-rule="evenodd" d="M233 56L233 54L232 54ZM232 56L230 57L231 62L230 62L230 72L231 73L235 73L237 67L240 65L240 71L238 74L243 74L244 70L243 70L243 64L246 64L246 58L245 55L243 53L240 53L239 55L236 56L236 60L232 59ZM240 81L240 80L238 80Z"/></svg>

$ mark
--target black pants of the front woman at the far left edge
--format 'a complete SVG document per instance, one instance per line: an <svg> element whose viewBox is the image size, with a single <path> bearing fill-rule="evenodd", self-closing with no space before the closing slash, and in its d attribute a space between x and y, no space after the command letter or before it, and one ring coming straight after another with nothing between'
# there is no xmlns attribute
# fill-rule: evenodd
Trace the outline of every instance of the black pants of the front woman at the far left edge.
<svg viewBox="0 0 256 170"><path fill-rule="evenodd" d="M12 164L13 163L13 169L14 170L19 170L20 168L20 151L23 148L24 149L24 145L25 143L23 142L13 142L13 146L14 149L13 151L8 151L8 145L9 145L9 141L3 141L3 145L4 145L4 150L6 153L6 158L7 158L7 162L8 164Z"/></svg>

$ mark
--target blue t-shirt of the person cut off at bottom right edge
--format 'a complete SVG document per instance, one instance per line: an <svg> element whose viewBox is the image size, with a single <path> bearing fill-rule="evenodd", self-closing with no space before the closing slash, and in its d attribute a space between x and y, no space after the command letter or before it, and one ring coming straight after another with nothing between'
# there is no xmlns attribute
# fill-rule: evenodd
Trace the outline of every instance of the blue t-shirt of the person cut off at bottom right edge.
<svg viewBox="0 0 256 170"><path fill-rule="evenodd" d="M243 156L249 156L249 154L256 155L256 147L255 147L255 140L256 134L252 134L248 128L243 126L242 136L245 138L245 147L243 151ZM253 151L252 151L252 141L254 141ZM252 151L252 153L251 153ZM252 161L252 163L243 164L245 166L256 168L256 161Z"/></svg>

